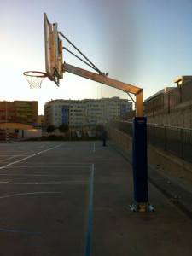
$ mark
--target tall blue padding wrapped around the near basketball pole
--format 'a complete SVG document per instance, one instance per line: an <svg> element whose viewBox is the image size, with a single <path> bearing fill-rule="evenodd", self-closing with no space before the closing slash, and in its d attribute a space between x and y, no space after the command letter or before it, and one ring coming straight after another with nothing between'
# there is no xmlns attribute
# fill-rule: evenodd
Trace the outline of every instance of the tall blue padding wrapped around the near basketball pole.
<svg viewBox="0 0 192 256"><path fill-rule="evenodd" d="M133 119L132 163L134 195L137 202L148 202L147 119Z"/></svg>

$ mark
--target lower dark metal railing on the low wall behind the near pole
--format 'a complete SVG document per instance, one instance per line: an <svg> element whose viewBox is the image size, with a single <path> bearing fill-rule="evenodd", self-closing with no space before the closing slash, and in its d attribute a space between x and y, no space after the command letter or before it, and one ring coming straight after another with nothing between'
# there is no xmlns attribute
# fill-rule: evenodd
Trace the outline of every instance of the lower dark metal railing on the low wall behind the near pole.
<svg viewBox="0 0 192 256"><path fill-rule="evenodd" d="M132 122L113 120L113 128L132 136ZM192 162L192 129L148 124L148 143Z"/></svg>

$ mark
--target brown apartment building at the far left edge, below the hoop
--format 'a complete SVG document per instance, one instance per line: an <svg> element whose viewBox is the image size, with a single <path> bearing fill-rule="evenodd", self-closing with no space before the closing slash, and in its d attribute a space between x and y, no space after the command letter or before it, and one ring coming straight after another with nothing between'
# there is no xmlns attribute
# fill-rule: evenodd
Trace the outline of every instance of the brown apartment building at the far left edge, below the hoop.
<svg viewBox="0 0 192 256"><path fill-rule="evenodd" d="M38 123L38 102L0 102L0 122Z"/></svg>

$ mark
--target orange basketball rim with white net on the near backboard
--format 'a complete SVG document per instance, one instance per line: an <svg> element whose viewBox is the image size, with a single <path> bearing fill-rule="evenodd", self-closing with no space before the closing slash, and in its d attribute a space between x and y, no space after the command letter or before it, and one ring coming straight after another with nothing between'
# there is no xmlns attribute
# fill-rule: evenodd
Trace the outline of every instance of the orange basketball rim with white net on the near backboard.
<svg viewBox="0 0 192 256"><path fill-rule="evenodd" d="M40 89L42 82L48 77L47 73L39 71L26 71L23 74L30 85L30 89Z"/></svg>

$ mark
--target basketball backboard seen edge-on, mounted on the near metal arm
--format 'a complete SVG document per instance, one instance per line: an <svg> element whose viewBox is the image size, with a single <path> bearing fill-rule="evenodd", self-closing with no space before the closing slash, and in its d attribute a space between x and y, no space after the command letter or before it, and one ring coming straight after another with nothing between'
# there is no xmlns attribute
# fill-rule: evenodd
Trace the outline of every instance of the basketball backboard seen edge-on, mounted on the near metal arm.
<svg viewBox="0 0 192 256"><path fill-rule="evenodd" d="M45 69L49 79L59 86L62 79L62 41L57 31L57 24L51 24L44 13Z"/></svg>

